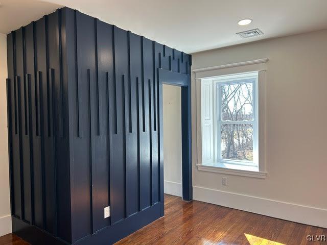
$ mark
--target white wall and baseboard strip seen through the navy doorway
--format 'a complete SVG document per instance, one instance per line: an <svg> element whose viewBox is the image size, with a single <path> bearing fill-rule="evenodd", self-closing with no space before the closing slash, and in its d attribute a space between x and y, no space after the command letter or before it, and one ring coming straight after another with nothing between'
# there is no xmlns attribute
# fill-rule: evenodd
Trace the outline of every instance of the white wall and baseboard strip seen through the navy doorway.
<svg viewBox="0 0 327 245"><path fill-rule="evenodd" d="M163 85L165 193L182 196L181 88Z"/></svg>

